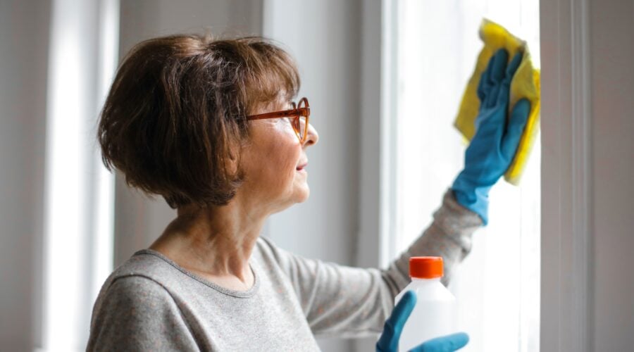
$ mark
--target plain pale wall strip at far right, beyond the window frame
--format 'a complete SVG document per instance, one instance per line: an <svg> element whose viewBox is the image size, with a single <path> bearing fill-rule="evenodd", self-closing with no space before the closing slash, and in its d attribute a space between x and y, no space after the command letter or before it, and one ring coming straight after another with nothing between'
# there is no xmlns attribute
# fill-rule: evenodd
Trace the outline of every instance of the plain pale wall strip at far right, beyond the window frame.
<svg viewBox="0 0 634 352"><path fill-rule="evenodd" d="M590 0L595 351L634 348L634 1Z"/></svg>

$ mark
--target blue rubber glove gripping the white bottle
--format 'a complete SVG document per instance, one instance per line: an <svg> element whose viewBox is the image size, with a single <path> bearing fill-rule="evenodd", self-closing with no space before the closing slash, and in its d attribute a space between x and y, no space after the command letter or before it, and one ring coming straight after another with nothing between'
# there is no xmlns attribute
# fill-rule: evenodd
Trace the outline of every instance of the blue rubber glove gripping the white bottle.
<svg viewBox="0 0 634 352"><path fill-rule="evenodd" d="M403 326L411 310L416 306L416 294L413 291L407 291L394 310L390 318L385 320L385 326L383 327L383 334L376 343L377 352L396 352L399 348L399 339L401 338L401 332ZM433 322L429 322L433 324ZM423 344L414 347L410 351L414 352L452 352L463 348L469 337L464 332L457 334L451 334L444 337L437 337L425 341Z"/></svg>

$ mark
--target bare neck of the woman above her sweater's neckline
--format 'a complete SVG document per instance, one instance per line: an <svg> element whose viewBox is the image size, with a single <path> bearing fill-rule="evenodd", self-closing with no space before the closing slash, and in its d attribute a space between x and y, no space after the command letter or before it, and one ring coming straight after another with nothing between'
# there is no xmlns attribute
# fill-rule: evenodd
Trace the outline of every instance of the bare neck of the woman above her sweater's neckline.
<svg viewBox="0 0 634 352"><path fill-rule="evenodd" d="M150 249L221 287L245 291L254 283L249 258L265 220L233 201L221 207L180 208Z"/></svg>

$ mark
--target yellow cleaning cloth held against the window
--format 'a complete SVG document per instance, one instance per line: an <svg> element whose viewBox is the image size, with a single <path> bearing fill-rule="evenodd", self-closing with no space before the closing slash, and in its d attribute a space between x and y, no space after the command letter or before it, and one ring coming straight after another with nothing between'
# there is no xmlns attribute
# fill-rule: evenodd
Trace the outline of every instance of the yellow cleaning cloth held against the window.
<svg viewBox="0 0 634 352"><path fill-rule="evenodd" d="M533 67L530 53L526 42L518 39L509 33L501 25L490 20L483 20L480 25L480 38L484 42L484 48L478 55L478 62L475 64L475 71L462 96L460 110L454 122L454 126L462 135L471 140L475 134L475 118L480 110L480 99L478 99L478 83L483 71L486 70L490 58L499 49L506 49L509 52L509 61L520 51L523 58L511 81L511 94L509 99L509 114L515 103L526 98L530 101L530 113L524 132L520 138L515 157L504 174L504 179L511 184L518 184L530 150L533 148L535 137L540 125L540 71Z"/></svg>

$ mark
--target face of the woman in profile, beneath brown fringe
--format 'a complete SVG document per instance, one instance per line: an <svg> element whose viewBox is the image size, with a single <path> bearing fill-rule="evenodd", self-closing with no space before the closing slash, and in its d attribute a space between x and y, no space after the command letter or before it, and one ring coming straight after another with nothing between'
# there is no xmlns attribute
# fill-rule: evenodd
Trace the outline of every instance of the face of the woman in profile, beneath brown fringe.
<svg viewBox="0 0 634 352"><path fill-rule="evenodd" d="M289 108L289 103L275 103L254 114ZM317 131L309 125L306 141L299 142L290 118L249 121L249 141L242 149L240 160L240 169L244 172L240 192L246 199L265 206L265 211L270 213L308 199L306 149L318 139Z"/></svg>

